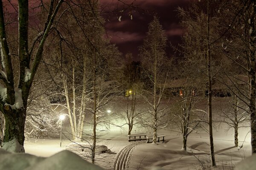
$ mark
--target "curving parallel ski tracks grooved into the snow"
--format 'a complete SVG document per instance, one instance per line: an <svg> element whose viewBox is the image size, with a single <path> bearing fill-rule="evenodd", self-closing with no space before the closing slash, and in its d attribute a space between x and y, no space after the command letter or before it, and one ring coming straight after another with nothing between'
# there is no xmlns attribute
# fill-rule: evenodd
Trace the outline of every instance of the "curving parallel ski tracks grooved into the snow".
<svg viewBox="0 0 256 170"><path fill-rule="evenodd" d="M126 147L124 147L117 155L116 161L114 164L114 170L125 170L126 163L128 161L128 157L131 153L131 150L138 144L142 143L140 142L133 142Z"/></svg>

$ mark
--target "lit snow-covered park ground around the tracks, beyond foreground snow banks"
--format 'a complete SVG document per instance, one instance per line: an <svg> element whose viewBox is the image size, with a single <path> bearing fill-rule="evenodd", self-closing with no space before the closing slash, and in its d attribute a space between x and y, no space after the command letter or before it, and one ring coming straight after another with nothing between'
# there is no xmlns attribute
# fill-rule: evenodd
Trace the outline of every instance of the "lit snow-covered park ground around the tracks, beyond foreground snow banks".
<svg viewBox="0 0 256 170"><path fill-rule="evenodd" d="M247 129L240 131L239 146L244 141ZM102 153L96 157L96 162L101 167L114 170L148 170L152 167L161 167L163 170L192 170L209 166L209 140L207 133L192 134L188 138L188 150L182 148L182 137L169 130L162 130L166 134L166 140L157 144L141 142L128 142L125 132L111 131L100 137L98 144L107 146L111 152ZM70 144L69 140L39 139L25 141L26 153L48 157L61 150L65 150ZM251 155L250 136L246 137L243 147L235 148L232 132L224 133L223 129L215 131L215 159L218 167L228 170L245 157ZM82 152L80 152L82 153ZM82 153L83 154L83 153ZM98 161L97 161L98 160Z"/></svg>

